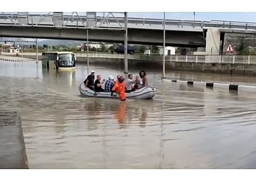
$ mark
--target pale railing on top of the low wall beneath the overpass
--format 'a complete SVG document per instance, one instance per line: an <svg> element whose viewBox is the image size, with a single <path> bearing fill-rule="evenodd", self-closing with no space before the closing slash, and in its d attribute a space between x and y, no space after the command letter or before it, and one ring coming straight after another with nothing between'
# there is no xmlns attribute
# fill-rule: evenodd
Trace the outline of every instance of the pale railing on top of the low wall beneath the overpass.
<svg viewBox="0 0 256 181"><path fill-rule="evenodd" d="M10 56L16 53L5 53L2 55ZM21 53L19 53L21 55ZM38 53L40 56L41 53ZM77 57L84 57L86 61L86 53L76 53ZM23 56L36 56L36 53L23 53ZM90 58L113 58L124 59L124 54L103 54L89 53ZM128 59L137 61L162 61L162 55L144 55L144 54L128 54ZM81 59L79 59L81 61ZM187 63L219 63L219 64L256 64L256 55L167 55L166 62L187 62Z"/></svg>

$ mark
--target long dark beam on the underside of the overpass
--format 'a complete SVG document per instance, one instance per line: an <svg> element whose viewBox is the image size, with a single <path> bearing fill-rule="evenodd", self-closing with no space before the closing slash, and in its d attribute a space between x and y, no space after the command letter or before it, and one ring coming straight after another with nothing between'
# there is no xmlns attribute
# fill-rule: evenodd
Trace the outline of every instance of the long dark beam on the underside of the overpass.
<svg viewBox="0 0 256 181"><path fill-rule="evenodd" d="M166 31L165 44L176 47L205 47L202 32ZM43 39L72 39L86 41L86 29L57 28L57 27L29 27L2 26L0 37L24 37ZM123 31L89 29L89 41L124 42ZM128 43L162 45L162 31L149 29L128 28Z"/></svg>

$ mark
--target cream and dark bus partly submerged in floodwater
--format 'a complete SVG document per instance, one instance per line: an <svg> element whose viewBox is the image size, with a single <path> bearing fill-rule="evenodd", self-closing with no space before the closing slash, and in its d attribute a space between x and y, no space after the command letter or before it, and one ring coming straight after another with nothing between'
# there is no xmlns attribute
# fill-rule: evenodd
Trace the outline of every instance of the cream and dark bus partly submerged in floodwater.
<svg viewBox="0 0 256 181"><path fill-rule="evenodd" d="M42 53L42 68L73 70L76 68L76 56L73 52L44 52Z"/></svg>

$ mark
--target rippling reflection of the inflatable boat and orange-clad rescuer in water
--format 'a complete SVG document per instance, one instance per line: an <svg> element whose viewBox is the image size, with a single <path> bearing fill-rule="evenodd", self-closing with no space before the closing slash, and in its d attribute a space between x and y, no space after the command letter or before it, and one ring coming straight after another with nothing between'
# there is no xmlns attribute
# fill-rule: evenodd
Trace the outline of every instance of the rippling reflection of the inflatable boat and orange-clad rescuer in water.
<svg viewBox="0 0 256 181"><path fill-rule="evenodd" d="M140 127L145 127L147 111L155 110L155 101L142 101L140 104L135 104L134 101L120 102L111 99L87 98L81 101L81 110L90 119L88 121L89 130L97 129L98 121L103 115L109 115L109 118L113 117L120 128L137 123Z"/></svg>

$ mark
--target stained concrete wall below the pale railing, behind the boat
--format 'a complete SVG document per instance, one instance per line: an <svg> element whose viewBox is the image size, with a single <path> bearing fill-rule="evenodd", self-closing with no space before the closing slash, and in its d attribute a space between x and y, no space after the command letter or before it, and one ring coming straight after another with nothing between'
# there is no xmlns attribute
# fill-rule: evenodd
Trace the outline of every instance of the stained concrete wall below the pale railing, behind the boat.
<svg viewBox="0 0 256 181"><path fill-rule="evenodd" d="M24 55L24 58L36 58L35 55ZM38 56L41 59L41 55ZM87 63L86 57L77 56L77 62ZM103 57L91 57L89 58L90 64L115 64L123 65L124 59L119 58L103 58ZM141 66L162 68L161 61L140 61L140 60L128 60L128 66ZM244 76L256 76L256 64L231 64L231 63L194 63L194 62L165 62L165 68L167 70L184 70L184 71L196 71L196 72L211 72L211 73L224 73L224 74L239 74Z"/></svg>

